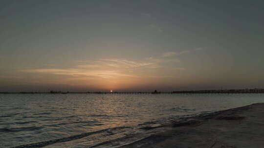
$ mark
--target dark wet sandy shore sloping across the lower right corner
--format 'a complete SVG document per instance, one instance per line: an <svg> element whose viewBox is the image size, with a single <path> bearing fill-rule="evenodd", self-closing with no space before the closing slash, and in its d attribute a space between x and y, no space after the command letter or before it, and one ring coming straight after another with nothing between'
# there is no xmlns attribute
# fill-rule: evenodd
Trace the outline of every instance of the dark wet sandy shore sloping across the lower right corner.
<svg viewBox="0 0 264 148"><path fill-rule="evenodd" d="M264 103L182 118L145 130L155 133L121 148L264 148Z"/></svg>

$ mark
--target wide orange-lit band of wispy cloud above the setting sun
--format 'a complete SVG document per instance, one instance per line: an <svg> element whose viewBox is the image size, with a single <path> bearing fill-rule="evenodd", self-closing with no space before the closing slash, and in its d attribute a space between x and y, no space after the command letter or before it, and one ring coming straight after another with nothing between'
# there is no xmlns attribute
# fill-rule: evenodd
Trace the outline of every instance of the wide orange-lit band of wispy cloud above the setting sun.
<svg viewBox="0 0 264 148"><path fill-rule="evenodd" d="M26 69L24 73L63 74L71 77L83 78L119 78L139 77L148 70L162 68L166 63L176 63L178 59L146 58L142 61L128 59L97 59L81 60L72 68ZM174 69L174 70L182 70Z"/></svg>

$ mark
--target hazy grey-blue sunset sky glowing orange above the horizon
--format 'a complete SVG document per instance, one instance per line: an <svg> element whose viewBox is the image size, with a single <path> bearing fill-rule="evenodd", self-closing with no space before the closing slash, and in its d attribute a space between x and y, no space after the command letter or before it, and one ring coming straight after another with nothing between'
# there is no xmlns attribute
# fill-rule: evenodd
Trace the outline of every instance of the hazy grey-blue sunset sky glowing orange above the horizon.
<svg viewBox="0 0 264 148"><path fill-rule="evenodd" d="M1 91L264 88L264 0L0 0Z"/></svg>

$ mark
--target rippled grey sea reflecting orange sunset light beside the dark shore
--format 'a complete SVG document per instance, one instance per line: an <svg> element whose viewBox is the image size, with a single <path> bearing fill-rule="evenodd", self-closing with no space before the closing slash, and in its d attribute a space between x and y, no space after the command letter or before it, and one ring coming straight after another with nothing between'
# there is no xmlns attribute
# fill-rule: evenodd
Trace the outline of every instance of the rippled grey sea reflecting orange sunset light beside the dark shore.
<svg viewBox="0 0 264 148"><path fill-rule="evenodd" d="M111 141L142 127L261 102L264 94L0 94L0 148L118 148L144 137Z"/></svg>

